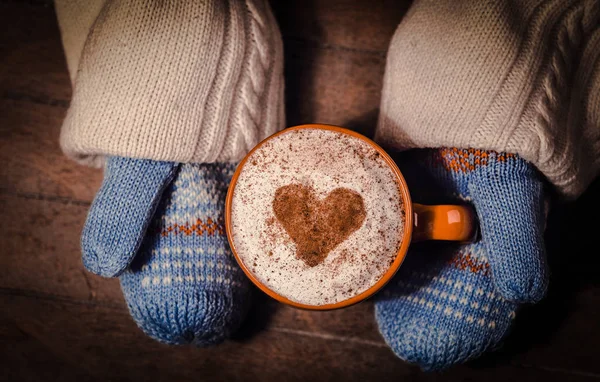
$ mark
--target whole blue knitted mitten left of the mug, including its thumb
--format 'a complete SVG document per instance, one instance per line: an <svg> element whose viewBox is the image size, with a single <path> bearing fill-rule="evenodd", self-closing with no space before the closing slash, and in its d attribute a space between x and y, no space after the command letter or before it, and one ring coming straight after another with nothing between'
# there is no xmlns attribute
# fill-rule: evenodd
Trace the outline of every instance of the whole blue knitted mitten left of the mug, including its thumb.
<svg viewBox="0 0 600 382"><path fill-rule="evenodd" d="M120 275L138 326L169 344L223 341L241 323L250 285L224 232L232 164L110 157L82 235L86 268Z"/></svg>

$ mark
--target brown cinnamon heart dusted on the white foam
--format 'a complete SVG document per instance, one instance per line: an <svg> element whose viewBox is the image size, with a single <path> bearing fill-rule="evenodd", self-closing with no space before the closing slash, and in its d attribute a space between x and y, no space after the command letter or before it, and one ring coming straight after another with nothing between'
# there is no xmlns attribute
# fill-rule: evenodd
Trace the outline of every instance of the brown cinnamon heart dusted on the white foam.
<svg viewBox="0 0 600 382"><path fill-rule="evenodd" d="M275 217L296 244L296 256L314 267L360 228L367 215L362 196L336 188L318 200L311 187L279 187L273 199Z"/></svg>

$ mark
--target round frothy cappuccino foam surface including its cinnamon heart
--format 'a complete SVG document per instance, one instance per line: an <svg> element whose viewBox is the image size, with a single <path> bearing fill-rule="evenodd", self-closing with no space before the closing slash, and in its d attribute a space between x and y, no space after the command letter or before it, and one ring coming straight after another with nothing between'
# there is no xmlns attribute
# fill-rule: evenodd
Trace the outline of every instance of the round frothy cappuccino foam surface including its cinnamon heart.
<svg viewBox="0 0 600 382"><path fill-rule="evenodd" d="M367 142L329 130L290 130L265 142L247 158L231 208L245 267L308 305L369 289L395 260L404 233L392 169Z"/></svg>

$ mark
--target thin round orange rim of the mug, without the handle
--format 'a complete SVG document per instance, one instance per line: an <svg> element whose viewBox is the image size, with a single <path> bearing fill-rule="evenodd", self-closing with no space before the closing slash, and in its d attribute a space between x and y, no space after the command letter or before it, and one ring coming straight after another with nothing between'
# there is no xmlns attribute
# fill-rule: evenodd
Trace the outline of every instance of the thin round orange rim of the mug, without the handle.
<svg viewBox="0 0 600 382"><path fill-rule="evenodd" d="M402 241L400 243L400 248L398 249L398 252L396 253L396 257L395 257L394 261L392 262L392 264L390 265L390 267L388 268L388 270L383 274L383 276L375 284L370 286L367 290L363 291L362 293L360 293L354 297L351 297L346 300L339 301L339 302L336 302L333 304L324 304L324 305L302 304L302 303L299 303L296 301L292 301L292 300L286 298L285 296L282 296L279 293L273 291L272 289L270 289L269 287L264 285L260 280L258 280L254 276L254 274L246 267L244 262L239 258L237 251L235 250L235 243L233 241L233 233L232 233L233 230L232 230L232 219L231 219L233 194L235 191L235 186L237 184L237 180L241 174L242 169L244 168L244 165L246 164L246 161L248 160L248 158L250 158L252 156L252 154L257 149L262 147L266 142L270 141L271 139L274 139L275 137L289 133L291 131L305 130L305 129L334 131L334 132L350 135L354 138L358 138L358 139L362 140L363 142L368 143L371 147L373 147L375 150L377 150L377 152L383 157L386 164L391 168L392 172L396 176L396 180L397 180L397 182L399 184L399 188L400 188L400 195L401 195L402 201L404 203L403 237L402 237ZM262 141L260 141L256 146L254 146L252 148L252 150L250 150L250 152L248 152L248 154L246 154L244 156L244 158L238 164L238 166L235 170L235 173L233 174L233 177L231 178L231 182L229 183L229 188L227 190L227 197L225 200L225 231L227 234L227 240L229 241L229 247L231 248L231 252L233 253L233 256L235 257L235 260L237 261L240 268L242 268L242 271L246 274L246 276L250 279L250 281L252 281L252 283L254 285L256 285L260 290L262 290L264 293L266 293L270 297L272 297L275 300L282 302L284 304L291 305L293 307L300 308L300 309L307 309L307 310L333 310L333 309L345 308L345 307L357 304L363 300L366 300L367 298L375 295L379 290L381 290L381 288L383 288L392 279L392 277L394 277L394 275L396 274L396 272L398 271L398 269L404 262L404 259L406 257L406 253L408 252L408 247L410 245L411 238L412 238L413 216L414 216L413 206L412 206L412 201L410 198L410 193L408 190L408 185L406 184L406 180L404 179L404 176L400 172L400 169L398 168L398 166L396 165L394 160L389 156L389 154L387 152L385 152L385 150L383 148L381 148L377 143L373 142L371 139L369 139L366 136L364 136L360 133L357 133L355 131L352 131L352 130L349 130L349 129L346 129L343 127L335 126L335 125L325 125L325 124L318 124L318 123L288 127L281 131L278 131L278 132L268 136L267 138L263 139Z"/></svg>

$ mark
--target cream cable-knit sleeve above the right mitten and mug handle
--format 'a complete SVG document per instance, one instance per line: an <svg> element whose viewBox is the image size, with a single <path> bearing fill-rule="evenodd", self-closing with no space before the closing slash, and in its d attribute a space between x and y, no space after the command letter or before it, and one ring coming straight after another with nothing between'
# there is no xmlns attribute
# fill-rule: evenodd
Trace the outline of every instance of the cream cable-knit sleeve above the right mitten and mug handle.
<svg viewBox="0 0 600 382"><path fill-rule="evenodd" d="M575 197L600 168L600 1L416 0L376 140L520 154Z"/></svg>

